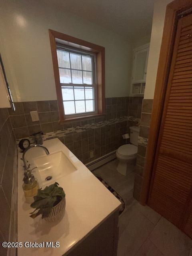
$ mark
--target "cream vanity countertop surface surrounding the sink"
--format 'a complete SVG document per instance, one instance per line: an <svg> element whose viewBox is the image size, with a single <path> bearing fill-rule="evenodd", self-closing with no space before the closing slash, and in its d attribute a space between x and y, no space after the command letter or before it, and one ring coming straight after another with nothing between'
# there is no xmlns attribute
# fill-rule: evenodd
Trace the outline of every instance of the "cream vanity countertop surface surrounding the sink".
<svg viewBox="0 0 192 256"><path fill-rule="evenodd" d="M44 141L50 154L58 151L70 159L77 170L56 180L66 193L66 210L60 222L49 223L41 216L29 217L33 209L25 202L22 190L23 162L22 153L18 151L18 256L67 255L88 234L95 230L108 216L120 207L120 201L86 168L86 166L58 140ZM42 148L34 148L26 153L27 160L46 153ZM35 172L32 172L35 175ZM54 183L50 182L49 184ZM48 184L48 185L49 185ZM58 248L26 248L25 242L59 242Z"/></svg>

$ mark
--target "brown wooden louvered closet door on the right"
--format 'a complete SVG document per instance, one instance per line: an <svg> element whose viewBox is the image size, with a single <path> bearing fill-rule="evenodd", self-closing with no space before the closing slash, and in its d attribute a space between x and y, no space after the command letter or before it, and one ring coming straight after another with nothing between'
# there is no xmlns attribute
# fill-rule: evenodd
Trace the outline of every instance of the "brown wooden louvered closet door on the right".
<svg viewBox="0 0 192 256"><path fill-rule="evenodd" d="M178 21L148 205L192 237L192 15Z"/></svg>

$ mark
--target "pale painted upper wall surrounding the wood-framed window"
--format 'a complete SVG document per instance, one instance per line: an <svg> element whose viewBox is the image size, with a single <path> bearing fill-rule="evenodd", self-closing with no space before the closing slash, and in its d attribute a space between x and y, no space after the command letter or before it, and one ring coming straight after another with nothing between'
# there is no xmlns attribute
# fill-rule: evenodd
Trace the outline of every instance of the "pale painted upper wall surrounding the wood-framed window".
<svg viewBox="0 0 192 256"><path fill-rule="evenodd" d="M0 52L14 101L56 99L49 28L104 46L106 97L128 96L132 46L119 35L40 0L1 0L0 10Z"/></svg>

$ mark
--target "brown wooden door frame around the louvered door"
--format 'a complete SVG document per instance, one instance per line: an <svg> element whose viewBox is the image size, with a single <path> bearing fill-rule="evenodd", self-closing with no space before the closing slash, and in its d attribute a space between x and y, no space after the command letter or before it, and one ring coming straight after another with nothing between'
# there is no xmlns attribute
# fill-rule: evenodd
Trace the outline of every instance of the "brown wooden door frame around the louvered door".
<svg viewBox="0 0 192 256"><path fill-rule="evenodd" d="M140 193L140 203L142 205L145 205L148 200L153 164L162 119L162 112L164 108L166 88L170 72L170 65L172 61L178 14L184 12L185 10L188 10L191 7L191 0L174 0L173 2L168 4L166 8L146 153L144 179Z"/></svg>

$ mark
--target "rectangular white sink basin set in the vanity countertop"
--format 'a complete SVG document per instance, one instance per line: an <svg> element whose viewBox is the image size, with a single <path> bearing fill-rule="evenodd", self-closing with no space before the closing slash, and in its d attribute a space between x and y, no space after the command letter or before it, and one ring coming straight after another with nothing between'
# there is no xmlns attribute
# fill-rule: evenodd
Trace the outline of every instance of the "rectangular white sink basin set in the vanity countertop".
<svg viewBox="0 0 192 256"><path fill-rule="evenodd" d="M72 164L62 151L46 156L36 157L33 161L34 166L37 167L34 169L36 172L35 176L41 186L57 181L59 178L77 170L74 164ZM48 176L51 176L52 178L50 180L46 180Z"/></svg>

